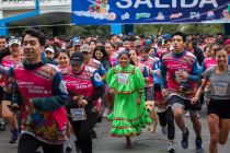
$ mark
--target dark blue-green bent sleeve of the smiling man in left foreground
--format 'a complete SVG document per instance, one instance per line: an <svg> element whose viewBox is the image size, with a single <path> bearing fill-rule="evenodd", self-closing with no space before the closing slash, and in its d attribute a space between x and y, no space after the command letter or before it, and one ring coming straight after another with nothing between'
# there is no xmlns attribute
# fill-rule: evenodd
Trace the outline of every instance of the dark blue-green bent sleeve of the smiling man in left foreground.
<svg viewBox="0 0 230 153"><path fill-rule="evenodd" d="M62 80L62 74L57 72L53 80L54 96L33 98L32 103L38 110L50 111L67 104L69 98L66 83Z"/></svg>

